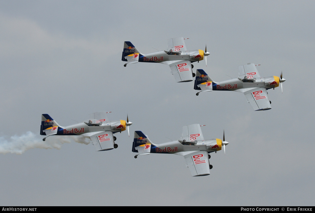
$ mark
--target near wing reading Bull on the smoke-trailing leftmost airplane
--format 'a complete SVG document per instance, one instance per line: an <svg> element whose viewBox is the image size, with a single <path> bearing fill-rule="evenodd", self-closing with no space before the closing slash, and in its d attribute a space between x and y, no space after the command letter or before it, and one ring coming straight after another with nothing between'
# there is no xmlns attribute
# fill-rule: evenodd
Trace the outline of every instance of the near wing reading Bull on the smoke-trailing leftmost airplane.
<svg viewBox="0 0 315 213"><path fill-rule="evenodd" d="M110 150L114 148L114 137L112 131L98 132L90 136L96 151Z"/></svg>

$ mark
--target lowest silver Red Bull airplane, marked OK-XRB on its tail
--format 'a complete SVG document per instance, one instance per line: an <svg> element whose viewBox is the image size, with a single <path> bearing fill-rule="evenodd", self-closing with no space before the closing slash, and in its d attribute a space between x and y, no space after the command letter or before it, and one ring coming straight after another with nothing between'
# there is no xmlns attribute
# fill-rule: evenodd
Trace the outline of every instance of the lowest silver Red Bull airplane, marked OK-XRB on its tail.
<svg viewBox="0 0 315 213"><path fill-rule="evenodd" d="M186 166L189 168L192 176L205 176L210 174L209 165L210 152L217 152L229 143L225 141L223 131L223 141L220 139L204 140L199 124L183 126L182 137L179 140L154 144L141 131L135 131L134 141L132 143L132 152L138 152L138 155L148 155L150 153L168 153L184 156Z"/></svg>

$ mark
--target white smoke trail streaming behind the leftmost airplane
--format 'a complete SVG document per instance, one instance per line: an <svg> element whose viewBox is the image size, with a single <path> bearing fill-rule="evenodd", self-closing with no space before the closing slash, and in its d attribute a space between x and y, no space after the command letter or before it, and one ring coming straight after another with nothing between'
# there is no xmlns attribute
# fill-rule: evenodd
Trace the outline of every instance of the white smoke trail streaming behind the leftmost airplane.
<svg viewBox="0 0 315 213"><path fill-rule="evenodd" d="M91 140L83 136L49 136L46 141L43 141L38 135L29 131L21 136L11 136L9 140L0 137L0 153L22 154L26 150L35 148L60 149L62 144L70 143L71 141L89 144Z"/></svg>

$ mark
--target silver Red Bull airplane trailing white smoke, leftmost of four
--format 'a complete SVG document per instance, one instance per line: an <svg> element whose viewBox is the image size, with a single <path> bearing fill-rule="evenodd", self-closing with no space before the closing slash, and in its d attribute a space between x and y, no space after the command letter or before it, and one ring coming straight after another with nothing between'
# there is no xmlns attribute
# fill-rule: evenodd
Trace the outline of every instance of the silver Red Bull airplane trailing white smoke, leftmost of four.
<svg viewBox="0 0 315 213"><path fill-rule="evenodd" d="M126 127L129 135L129 126L132 123L129 122L128 115L127 121L108 121L104 117L103 112L93 113L93 118L94 119L85 120L78 124L62 127L48 114L42 114L40 134L47 137L51 135L87 136L91 139L97 151L111 150L113 148L116 149L118 145L115 143L116 137L113 136L113 134L117 132L121 133L126 130ZM47 137L44 137L43 141L45 141Z"/></svg>

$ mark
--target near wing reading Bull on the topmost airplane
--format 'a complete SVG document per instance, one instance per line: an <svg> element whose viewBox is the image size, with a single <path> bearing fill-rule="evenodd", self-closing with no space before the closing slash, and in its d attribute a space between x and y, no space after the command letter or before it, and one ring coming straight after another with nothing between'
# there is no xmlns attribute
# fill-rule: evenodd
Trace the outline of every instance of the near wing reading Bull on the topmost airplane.
<svg viewBox="0 0 315 213"><path fill-rule="evenodd" d="M169 64L171 73L175 77L176 82L192 81L192 62L188 60L176 61Z"/></svg>

